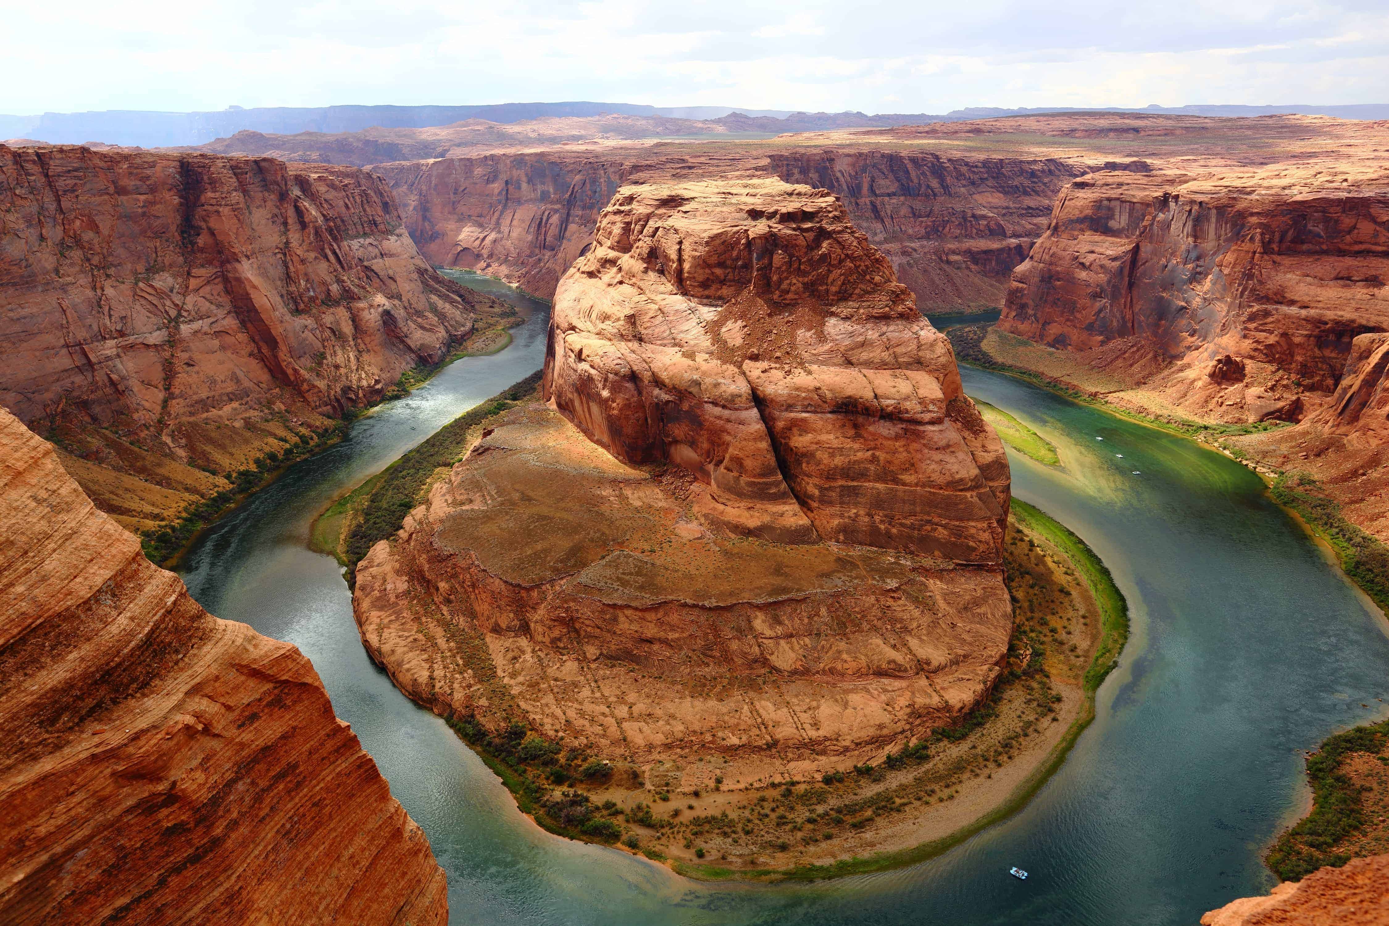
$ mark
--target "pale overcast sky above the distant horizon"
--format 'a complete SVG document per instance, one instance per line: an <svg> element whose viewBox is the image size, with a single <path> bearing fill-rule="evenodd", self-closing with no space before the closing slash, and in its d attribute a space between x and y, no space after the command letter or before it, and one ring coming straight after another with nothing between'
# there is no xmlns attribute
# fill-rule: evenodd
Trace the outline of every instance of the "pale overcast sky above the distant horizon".
<svg viewBox="0 0 1389 926"><path fill-rule="evenodd" d="M31 0L0 112L1389 101L1389 0Z"/></svg>

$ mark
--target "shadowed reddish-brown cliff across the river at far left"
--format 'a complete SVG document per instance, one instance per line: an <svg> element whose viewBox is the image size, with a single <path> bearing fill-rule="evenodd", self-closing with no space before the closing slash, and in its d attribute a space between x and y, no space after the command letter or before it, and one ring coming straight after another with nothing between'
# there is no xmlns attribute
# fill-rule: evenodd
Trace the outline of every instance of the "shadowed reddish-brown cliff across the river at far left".
<svg viewBox="0 0 1389 926"><path fill-rule="evenodd" d="M0 404L128 494L225 489L201 483L379 398L479 311L364 171L0 146ZM74 471L146 526L117 476Z"/></svg>

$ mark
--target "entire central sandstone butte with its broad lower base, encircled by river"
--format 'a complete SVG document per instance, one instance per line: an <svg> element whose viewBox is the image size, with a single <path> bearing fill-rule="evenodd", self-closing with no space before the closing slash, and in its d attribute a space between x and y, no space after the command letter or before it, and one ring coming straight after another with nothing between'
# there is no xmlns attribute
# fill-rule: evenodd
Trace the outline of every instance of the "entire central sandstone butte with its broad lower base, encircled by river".
<svg viewBox="0 0 1389 926"><path fill-rule="evenodd" d="M358 565L413 698L688 790L846 769L988 694L1007 462L832 194L619 190L546 389Z"/></svg>

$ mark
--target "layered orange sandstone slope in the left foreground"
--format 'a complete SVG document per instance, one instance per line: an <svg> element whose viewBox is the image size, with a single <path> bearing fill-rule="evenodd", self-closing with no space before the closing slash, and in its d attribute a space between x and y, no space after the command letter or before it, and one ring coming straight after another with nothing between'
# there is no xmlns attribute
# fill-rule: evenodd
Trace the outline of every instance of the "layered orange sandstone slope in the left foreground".
<svg viewBox="0 0 1389 926"><path fill-rule="evenodd" d="M294 647L218 621L0 410L0 920L444 923Z"/></svg>

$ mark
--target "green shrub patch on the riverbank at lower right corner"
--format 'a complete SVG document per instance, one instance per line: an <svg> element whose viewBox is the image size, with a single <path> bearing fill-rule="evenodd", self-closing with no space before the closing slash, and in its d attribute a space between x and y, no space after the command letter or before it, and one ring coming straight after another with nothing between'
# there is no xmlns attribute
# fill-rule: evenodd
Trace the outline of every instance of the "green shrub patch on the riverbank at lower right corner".
<svg viewBox="0 0 1389 926"><path fill-rule="evenodd" d="M1346 837L1365 825L1360 786L1342 772L1353 752L1379 755L1389 741L1389 721L1357 726L1332 736L1307 759L1313 809L1268 850L1265 862L1285 882L1301 880L1322 865L1342 866L1351 859L1338 851Z"/></svg>

